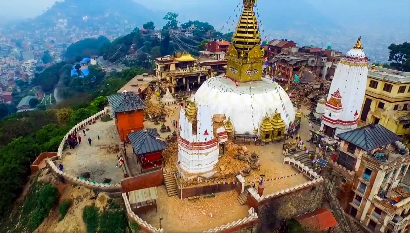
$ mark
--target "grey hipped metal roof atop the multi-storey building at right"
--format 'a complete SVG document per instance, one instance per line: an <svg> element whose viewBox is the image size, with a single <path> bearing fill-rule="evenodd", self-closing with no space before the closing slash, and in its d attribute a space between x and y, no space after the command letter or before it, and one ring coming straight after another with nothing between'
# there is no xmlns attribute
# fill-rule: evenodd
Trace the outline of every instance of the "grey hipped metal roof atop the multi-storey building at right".
<svg viewBox="0 0 410 233"><path fill-rule="evenodd" d="M369 124L358 129L339 133L337 137L352 143L365 151L370 151L377 147L400 140L399 136L380 124Z"/></svg>

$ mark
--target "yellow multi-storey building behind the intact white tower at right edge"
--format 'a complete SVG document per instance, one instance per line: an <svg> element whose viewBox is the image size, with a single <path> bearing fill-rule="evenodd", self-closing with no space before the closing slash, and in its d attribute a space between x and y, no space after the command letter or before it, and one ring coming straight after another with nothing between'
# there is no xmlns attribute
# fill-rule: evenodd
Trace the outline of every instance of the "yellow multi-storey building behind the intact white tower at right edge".
<svg viewBox="0 0 410 233"><path fill-rule="evenodd" d="M408 143L410 139L410 72L371 66L360 124L381 124ZM409 148L410 145L408 144Z"/></svg>

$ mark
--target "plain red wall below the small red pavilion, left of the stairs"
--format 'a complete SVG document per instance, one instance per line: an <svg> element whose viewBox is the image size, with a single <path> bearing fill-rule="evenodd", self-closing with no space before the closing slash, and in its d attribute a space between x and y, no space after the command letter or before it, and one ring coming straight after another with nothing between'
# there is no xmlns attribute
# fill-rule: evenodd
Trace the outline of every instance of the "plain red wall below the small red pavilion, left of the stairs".
<svg viewBox="0 0 410 233"><path fill-rule="evenodd" d="M164 183L164 174L162 169L142 173L134 177L128 177L121 180L123 192L139 190L143 188L157 187Z"/></svg>

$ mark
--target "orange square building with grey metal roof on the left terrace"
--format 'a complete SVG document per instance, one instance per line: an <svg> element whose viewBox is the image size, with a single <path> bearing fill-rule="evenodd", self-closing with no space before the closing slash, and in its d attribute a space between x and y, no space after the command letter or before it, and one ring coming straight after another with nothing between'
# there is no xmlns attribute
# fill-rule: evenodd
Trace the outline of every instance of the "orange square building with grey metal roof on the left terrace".
<svg viewBox="0 0 410 233"><path fill-rule="evenodd" d="M115 117L115 125L121 141L128 133L144 129L145 104L135 92L117 93L107 96Z"/></svg>

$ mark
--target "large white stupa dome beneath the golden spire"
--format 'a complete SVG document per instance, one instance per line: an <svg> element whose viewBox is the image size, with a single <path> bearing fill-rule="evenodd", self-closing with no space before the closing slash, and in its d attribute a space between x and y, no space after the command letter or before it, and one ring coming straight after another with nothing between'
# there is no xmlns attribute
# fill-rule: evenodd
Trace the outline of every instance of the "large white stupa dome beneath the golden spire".
<svg viewBox="0 0 410 233"><path fill-rule="evenodd" d="M295 110L289 96L276 82L261 81L239 83L220 75L207 79L196 91L194 101L210 106L211 114L230 117L235 133L254 135L260 119L278 109L286 126L294 122ZM283 106L282 106L283 105Z"/></svg>

